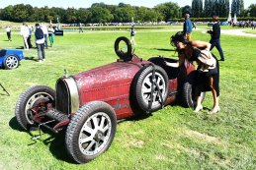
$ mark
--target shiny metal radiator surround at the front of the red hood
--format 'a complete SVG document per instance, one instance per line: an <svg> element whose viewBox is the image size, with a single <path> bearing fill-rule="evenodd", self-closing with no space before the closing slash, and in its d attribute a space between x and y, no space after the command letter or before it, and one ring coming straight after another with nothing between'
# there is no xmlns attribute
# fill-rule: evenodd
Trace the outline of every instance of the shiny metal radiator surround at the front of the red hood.
<svg viewBox="0 0 256 170"><path fill-rule="evenodd" d="M70 101L71 101L71 113L75 113L79 109L79 93L75 80L72 77L65 78L63 81L66 83L69 89Z"/></svg>

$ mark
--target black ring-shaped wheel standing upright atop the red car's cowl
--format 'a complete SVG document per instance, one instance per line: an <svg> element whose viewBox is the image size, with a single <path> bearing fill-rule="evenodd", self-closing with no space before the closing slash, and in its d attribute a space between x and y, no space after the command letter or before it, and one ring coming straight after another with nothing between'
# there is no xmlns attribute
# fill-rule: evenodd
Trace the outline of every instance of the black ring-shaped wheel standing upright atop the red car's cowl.
<svg viewBox="0 0 256 170"><path fill-rule="evenodd" d="M122 49L120 49L120 43L121 41L125 41L125 43L127 44L127 52L124 52ZM132 47L131 47L131 43L129 41L129 39L126 36L120 36L116 39L115 41L115 52L116 54L123 59L124 61L130 61L132 58Z"/></svg>

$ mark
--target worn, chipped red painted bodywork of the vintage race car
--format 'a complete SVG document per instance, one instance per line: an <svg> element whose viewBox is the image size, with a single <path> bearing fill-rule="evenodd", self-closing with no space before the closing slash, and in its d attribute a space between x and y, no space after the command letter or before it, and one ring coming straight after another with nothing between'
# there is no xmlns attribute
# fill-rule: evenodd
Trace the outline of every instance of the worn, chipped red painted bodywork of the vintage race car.
<svg viewBox="0 0 256 170"><path fill-rule="evenodd" d="M130 62L118 61L73 76L80 95L80 107L93 100L105 101L116 111L118 119L134 115L130 108L130 85L135 74L150 62L133 57ZM194 67L186 62L189 74ZM169 80L170 92L177 91L177 79ZM176 94L168 97L166 104L173 102ZM131 98L132 99L132 98Z"/></svg>

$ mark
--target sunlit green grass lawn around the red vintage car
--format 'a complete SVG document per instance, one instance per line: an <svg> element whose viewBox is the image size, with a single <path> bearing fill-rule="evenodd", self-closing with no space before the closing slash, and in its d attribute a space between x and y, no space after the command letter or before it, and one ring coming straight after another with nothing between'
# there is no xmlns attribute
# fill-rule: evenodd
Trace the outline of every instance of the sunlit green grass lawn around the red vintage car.
<svg viewBox="0 0 256 170"><path fill-rule="evenodd" d="M177 29L177 27L175 27ZM181 28L180 28L181 29ZM176 58L169 44L175 31L137 31L135 53ZM221 35L225 62L220 63L220 112L199 114L179 104L167 106L141 120L118 124L117 134L107 152L95 160L77 165L68 158L64 132L44 134L33 142L20 131L14 116L22 91L31 85L49 85L63 75L77 74L116 61L114 41L129 31L87 31L55 36L53 48L45 50L46 61L38 63L36 49L24 51L27 60L16 70L0 70L0 169L255 169L256 168L256 38ZM193 39L210 40L201 30ZM23 45L13 34L8 42L0 36L1 47ZM248 43L251 42L251 43ZM217 51L213 53L219 58ZM208 92L204 106L212 108ZM37 135L39 132L33 132Z"/></svg>

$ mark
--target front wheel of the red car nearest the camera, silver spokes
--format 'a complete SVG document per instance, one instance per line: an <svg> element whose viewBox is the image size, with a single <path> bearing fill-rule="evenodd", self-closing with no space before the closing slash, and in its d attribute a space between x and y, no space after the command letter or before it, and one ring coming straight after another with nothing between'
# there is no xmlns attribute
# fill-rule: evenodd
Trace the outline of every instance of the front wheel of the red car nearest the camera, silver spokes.
<svg viewBox="0 0 256 170"><path fill-rule="evenodd" d="M77 163L89 162L110 147L116 129L116 113L109 104L102 101L85 104L73 115L67 127L68 154Z"/></svg>

